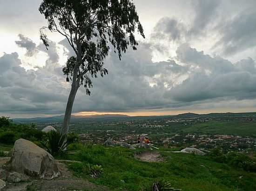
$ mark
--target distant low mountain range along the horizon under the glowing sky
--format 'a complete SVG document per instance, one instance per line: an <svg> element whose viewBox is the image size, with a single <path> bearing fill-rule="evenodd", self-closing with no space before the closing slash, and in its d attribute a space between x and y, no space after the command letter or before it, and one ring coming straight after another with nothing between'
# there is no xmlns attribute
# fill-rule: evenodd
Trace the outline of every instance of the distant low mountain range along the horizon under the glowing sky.
<svg viewBox="0 0 256 191"><path fill-rule="evenodd" d="M13 119L16 123L47 123L47 122L62 122L64 115L52 117L36 117L36 118L17 118ZM236 117L251 117L256 118L256 112L251 113L211 113L211 114L195 114L185 113L179 115L164 115L164 116L129 116L120 114L104 114L104 115L72 115L71 122L81 122L88 120L119 120L119 119L139 119L139 118L170 118L170 119L185 119L185 118L236 118Z"/></svg>

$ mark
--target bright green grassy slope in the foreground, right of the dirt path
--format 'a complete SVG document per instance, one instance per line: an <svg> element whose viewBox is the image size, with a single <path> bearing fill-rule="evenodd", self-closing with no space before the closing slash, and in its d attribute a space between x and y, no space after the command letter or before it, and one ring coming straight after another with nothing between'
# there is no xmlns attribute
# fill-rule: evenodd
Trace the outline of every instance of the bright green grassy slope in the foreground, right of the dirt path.
<svg viewBox="0 0 256 191"><path fill-rule="evenodd" d="M255 191L256 173L217 163L208 156L184 153L167 153L160 149L166 162L149 163L134 159L135 152L121 147L87 145L74 149L67 159L81 161L69 168L77 177L89 179L97 185L108 186L113 191L151 191L153 182L164 179L182 191ZM91 178L87 164L101 165L100 178Z"/></svg>

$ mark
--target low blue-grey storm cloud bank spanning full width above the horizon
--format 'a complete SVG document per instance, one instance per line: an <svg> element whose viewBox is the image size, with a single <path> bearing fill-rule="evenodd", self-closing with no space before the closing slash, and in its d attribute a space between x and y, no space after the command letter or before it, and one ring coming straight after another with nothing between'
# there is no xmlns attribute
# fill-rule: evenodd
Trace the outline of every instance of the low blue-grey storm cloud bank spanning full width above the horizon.
<svg viewBox="0 0 256 191"><path fill-rule="evenodd" d="M105 62L109 75L93 79L91 96L81 87L73 111L206 107L214 100L256 99L256 64L251 58L231 63L187 44L177 49L182 65L174 60L153 63L151 58L150 45L144 43L121 61L111 52ZM54 66L26 71L17 53L0 57L0 112L63 113L70 84L61 66ZM176 83L180 76L187 77Z"/></svg>

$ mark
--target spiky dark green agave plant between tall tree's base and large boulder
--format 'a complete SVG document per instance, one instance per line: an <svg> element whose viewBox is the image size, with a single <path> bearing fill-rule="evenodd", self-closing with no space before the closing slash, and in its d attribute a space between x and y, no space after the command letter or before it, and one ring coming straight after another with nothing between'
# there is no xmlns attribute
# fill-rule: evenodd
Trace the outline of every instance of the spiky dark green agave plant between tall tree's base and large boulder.
<svg viewBox="0 0 256 191"><path fill-rule="evenodd" d="M46 147L48 153L56 156L66 151L67 135L61 134L59 131L50 131L47 133L46 142L41 143Z"/></svg>

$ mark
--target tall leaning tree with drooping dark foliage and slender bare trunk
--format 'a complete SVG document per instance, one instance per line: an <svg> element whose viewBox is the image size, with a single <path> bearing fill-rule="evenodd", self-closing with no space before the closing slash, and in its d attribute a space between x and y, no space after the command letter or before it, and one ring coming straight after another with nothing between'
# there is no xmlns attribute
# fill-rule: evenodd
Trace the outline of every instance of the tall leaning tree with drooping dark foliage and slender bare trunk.
<svg viewBox="0 0 256 191"><path fill-rule="evenodd" d="M46 48L45 29L63 35L75 52L63 68L67 82L72 82L67 100L62 133L67 134L77 90L84 86L90 95L92 78L108 74L104 59L112 45L121 59L128 46L136 50L135 31L145 38L132 0L43 0L39 11L48 21L40 29Z"/></svg>

